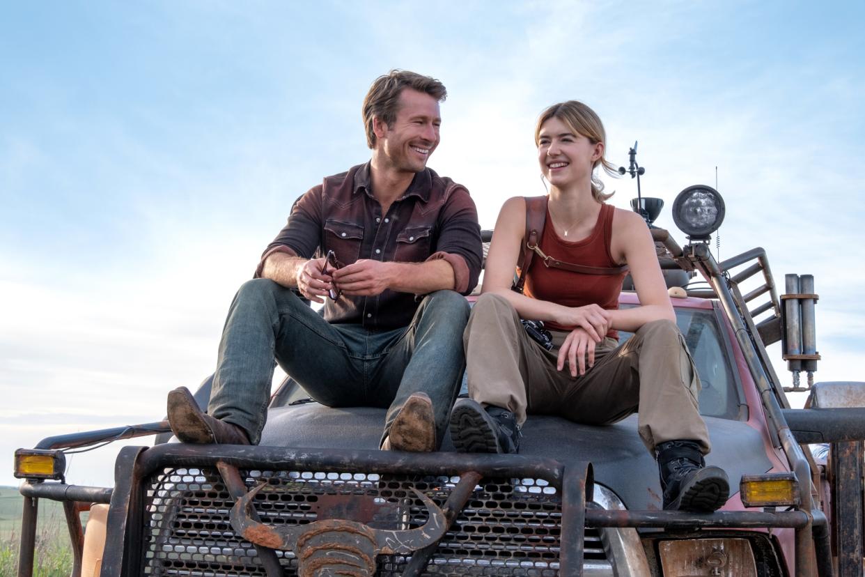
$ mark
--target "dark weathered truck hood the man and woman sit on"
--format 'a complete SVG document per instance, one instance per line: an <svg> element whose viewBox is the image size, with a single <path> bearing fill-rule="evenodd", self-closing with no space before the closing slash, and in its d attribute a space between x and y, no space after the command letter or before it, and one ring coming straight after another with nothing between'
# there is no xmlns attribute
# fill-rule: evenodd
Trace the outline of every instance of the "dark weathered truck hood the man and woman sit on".
<svg viewBox="0 0 865 577"><path fill-rule="evenodd" d="M385 410L373 407L330 408L304 403L273 408L261 445L305 449L377 449ZM727 471L730 491L742 474L772 468L758 431L744 422L704 417L712 441L707 465ZM442 451L453 451L445 435ZM561 461L590 461L595 483L612 490L631 510L662 508L657 464L637 433L637 415L611 426L578 425L559 417L530 415L522 429L520 454Z"/></svg>

